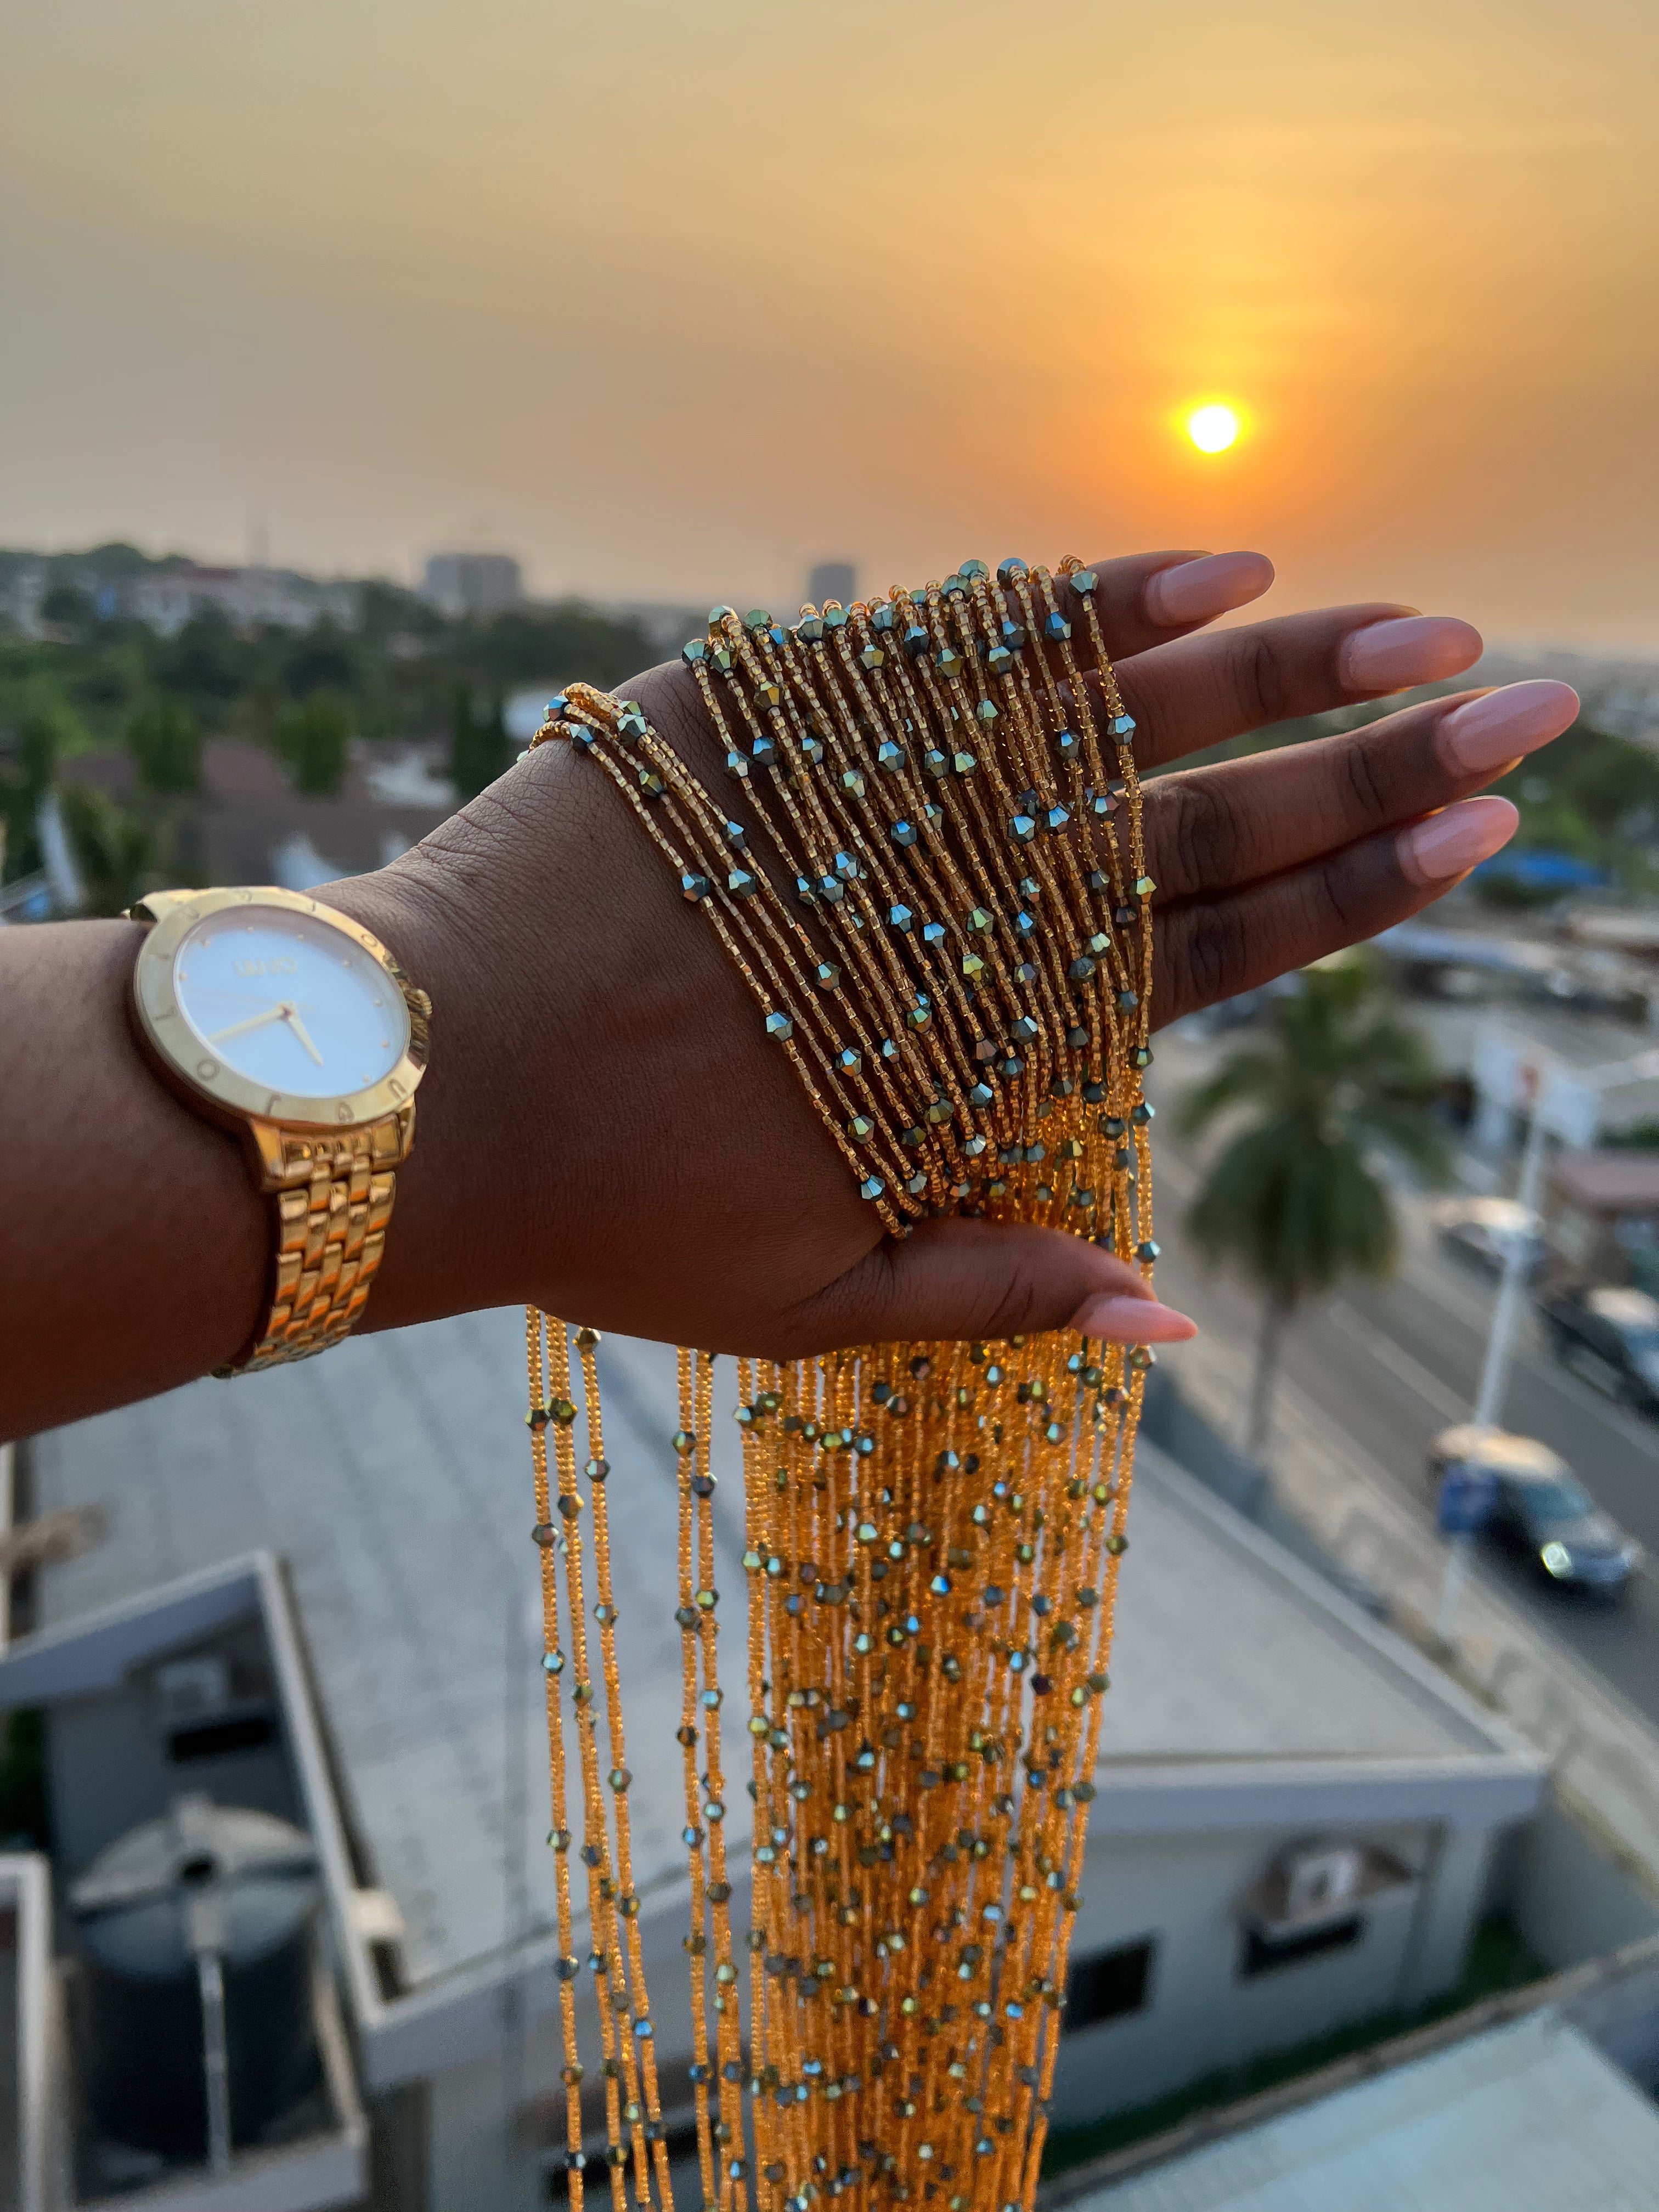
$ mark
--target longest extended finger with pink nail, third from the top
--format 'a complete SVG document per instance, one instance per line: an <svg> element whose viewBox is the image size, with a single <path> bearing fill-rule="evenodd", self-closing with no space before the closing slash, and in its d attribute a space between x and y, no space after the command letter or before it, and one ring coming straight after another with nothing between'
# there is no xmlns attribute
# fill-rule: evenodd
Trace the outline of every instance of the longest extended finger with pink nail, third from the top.
<svg viewBox="0 0 1659 2212"><path fill-rule="evenodd" d="M1345 737L1155 776L1146 865L1164 900L1276 876L1480 790L1573 728L1571 684L1429 699Z"/></svg>

